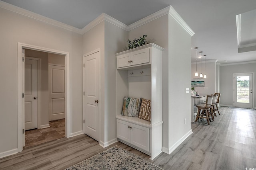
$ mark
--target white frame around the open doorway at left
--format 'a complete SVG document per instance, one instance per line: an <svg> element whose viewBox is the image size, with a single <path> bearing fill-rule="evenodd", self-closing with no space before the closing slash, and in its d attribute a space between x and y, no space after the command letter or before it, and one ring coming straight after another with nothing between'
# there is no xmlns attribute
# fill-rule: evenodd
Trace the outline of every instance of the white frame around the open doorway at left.
<svg viewBox="0 0 256 170"><path fill-rule="evenodd" d="M70 53L65 51L59 51L54 49L49 49L45 47L39 47L35 45L29 45L25 43L18 42L17 49L17 145L18 152L23 150L23 121L24 121L24 98L22 98L22 93L24 93L24 63L22 57L24 57L24 49L31 49L35 51L42 51L47 53L55 53L65 56L65 90L66 90L66 134L65 136L70 137Z"/></svg>

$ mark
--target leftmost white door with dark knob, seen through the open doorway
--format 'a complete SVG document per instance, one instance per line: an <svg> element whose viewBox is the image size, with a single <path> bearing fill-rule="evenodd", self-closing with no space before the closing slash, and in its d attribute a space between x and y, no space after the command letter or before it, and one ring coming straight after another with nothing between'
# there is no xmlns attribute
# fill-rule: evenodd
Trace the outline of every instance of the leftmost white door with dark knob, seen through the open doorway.
<svg viewBox="0 0 256 170"><path fill-rule="evenodd" d="M38 128L38 61L25 58L25 130Z"/></svg>

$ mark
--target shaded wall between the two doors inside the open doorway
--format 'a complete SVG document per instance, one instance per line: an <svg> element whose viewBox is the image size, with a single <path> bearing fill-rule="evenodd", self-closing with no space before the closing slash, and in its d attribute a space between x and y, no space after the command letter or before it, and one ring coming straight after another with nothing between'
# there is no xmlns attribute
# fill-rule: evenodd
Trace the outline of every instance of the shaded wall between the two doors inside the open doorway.
<svg viewBox="0 0 256 170"><path fill-rule="evenodd" d="M25 49L25 57L35 57L41 59L41 74L40 74L40 117L41 124L38 125L40 129L41 125L49 124L49 94L48 94L48 53L42 51L34 51Z"/></svg>

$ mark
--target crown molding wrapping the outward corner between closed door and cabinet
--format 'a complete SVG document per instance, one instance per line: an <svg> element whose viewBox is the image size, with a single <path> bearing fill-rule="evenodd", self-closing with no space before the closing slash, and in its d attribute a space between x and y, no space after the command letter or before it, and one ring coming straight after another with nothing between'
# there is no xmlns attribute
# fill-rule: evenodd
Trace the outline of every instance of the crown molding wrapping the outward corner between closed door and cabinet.
<svg viewBox="0 0 256 170"><path fill-rule="evenodd" d="M109 16L105 13L102 13L102 14L100 14L100 16L98 16L93 21L91 21L88 25L86 25L84 28L82 28L82 34L86 33L87 31L89 31L90 29L92 29L93 27L95 27L96 25L98 25L102 21L108 21L108 22L116 25L117 27L120 27L120 28L128 31L127 30L127 25L125 25L124 23L112 18L111 16Z"/></svg>

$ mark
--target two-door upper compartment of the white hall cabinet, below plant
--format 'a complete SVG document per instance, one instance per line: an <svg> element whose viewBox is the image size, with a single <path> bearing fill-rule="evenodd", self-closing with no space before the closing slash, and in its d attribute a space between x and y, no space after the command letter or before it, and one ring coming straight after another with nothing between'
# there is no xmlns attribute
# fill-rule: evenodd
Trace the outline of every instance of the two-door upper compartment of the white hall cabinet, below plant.
<svg viewBox="0 0 256 170"><path fill-rule="evenodd" d="M149 51L150 49L148 47L140 50L137 49L135 51L134 49L130 49L128 51L122 52L124 54L119 53L120 55L116 57L116 66L117 68L126 68L129 66L149 64L150 63Z"/></svg>

